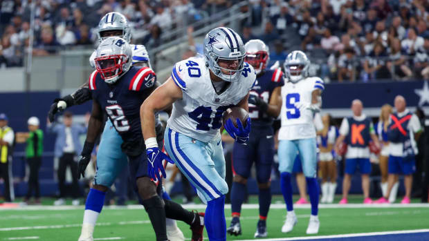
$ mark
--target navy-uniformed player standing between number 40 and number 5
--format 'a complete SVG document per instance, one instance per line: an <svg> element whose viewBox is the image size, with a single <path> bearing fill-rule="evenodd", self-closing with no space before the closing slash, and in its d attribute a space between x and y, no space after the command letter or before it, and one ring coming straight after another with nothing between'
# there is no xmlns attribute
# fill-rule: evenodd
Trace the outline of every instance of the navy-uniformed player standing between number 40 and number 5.
<svg viewBox="0 0 429 241"><path fill-rule="evenodd" d="M283 73L280 68L266 68L269 61L268 46L259 39L248 41L246 61L255 68L257 73L255 86L249 95L249 116L252 119L252 131L246 146L235 144L232 152L234 179L231 189L232 221L228 227L231 235L241 234L239 216L241 204L244 202L246 182L250 176L250 168L256 165L256 176L259 188L259 221L255 238L264 238L266 217L271 204L271 166L274 160L273 119L280 114L282 99L280 90L284 85Z"/></svg>

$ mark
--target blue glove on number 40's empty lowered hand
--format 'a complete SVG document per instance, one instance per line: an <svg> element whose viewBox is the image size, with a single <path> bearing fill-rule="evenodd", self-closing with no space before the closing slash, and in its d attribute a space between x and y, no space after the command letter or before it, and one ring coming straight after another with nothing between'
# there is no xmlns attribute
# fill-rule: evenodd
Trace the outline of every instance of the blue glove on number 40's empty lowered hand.
<svg viewBox="0 0 429 241"><path fill-rule="evenodd" d="M167 160L167 162L173 163L173 160L170 159L165 153L159 150L158 147L152 147L146 149L147 153L147 173L149 177L151 177L154 181L161 180L161 176L159 172L161 171L161 175L163 177L167 177L165 174L163 160Z"/></svg>

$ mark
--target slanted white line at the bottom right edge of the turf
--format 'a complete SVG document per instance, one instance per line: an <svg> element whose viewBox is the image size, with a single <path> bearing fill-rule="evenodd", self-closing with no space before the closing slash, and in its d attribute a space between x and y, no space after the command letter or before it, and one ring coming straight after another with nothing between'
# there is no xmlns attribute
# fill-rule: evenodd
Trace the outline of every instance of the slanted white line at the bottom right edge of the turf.
<svg viewBox="0 0 429 241"><path fill-rule="evenodd" d="M389 235L389 234L402 234L402 233L426 233L426 232L429 232L429 229L385 231L385 232L372 232L372 233L348 233L348 234L321 235L321 236L311 236L311 237L306 236L306 237L294 237L294 238L267 238L267 239L258 239L258 241L318 240L322 238L353 238L353 237L365 237L365 236L376 236L376 235ZM255 240L240 240L240 241L255 241Z"/></svg>

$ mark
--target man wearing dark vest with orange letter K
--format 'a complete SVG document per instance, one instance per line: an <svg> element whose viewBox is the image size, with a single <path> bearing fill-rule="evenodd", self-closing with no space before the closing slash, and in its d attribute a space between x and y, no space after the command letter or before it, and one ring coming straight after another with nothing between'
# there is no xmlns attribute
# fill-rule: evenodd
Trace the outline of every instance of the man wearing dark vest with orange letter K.
<svg viewBox="0 0 429 241"><path fill-rule="evenodd" d="M347 204L347 196L352 182L352 175L359 165L362 177L363 203L371 204L369 198L369 173L371 173L371 163L369 162L369 141L379 146L378 138L375 135L374 124L369 117L362 113L363 104L359 99L352 102L353 116L343 119L340 126L340 136L336 141L336 152L340 153L338 146L343 142L347 143L345 153L345 174L343 180L343 199L340 204Z"/></svg>

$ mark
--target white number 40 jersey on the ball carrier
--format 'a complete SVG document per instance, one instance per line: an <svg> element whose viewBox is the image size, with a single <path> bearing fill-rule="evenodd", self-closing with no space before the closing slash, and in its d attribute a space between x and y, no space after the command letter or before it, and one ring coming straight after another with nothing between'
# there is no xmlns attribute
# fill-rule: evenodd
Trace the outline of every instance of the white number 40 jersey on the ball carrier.
<svg viewBox="0 0 429 241"><path fill-rule="evenodd" d="M209 142L220 135L223 111L246 97L255 84L256 73L252 66L244 63L241 78L217 95L206 61L192 57L173 67L172 79L181 88L183 98L174 102L167 126L201 142Z"/></svg>

